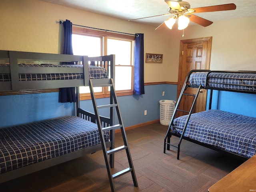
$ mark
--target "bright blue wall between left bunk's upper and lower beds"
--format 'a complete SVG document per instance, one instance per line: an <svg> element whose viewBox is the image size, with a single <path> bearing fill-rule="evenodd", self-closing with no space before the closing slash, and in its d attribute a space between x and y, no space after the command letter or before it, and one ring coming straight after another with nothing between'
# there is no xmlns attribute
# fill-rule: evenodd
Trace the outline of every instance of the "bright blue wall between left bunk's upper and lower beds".
<svg viewBox="0 0 256 192"><path fill-rule="evenodd" d="M70 116L73 106L59 103L58 92L0 96L0 127Z"/></svg>

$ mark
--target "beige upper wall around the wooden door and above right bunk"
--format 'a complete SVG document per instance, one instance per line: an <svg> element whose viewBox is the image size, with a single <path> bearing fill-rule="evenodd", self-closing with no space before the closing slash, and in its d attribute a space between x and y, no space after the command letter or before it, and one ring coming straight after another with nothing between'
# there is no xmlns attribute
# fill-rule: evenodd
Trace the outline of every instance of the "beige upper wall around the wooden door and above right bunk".
<svg viewBox="0 0 256 192"><path fill-rule="evenodd" d="M211 70L256 70L256 16L221 22L208 27L189 26L173 30L170 44L174 44L172 65L178 70L180 40L212 37Z"/></svg>

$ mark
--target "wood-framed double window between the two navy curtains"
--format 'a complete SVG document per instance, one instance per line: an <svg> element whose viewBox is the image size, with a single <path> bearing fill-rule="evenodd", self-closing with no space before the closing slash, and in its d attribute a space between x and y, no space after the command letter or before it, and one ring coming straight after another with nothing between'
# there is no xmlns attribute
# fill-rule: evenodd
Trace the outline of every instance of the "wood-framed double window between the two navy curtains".
<svg viewBox="0 0 256 192"><path fill-rule="evenodd" d="M72 46L75 55L115 54L115 89L118 96L133 94L134 80L134 36L99 30L72 27ZM107 88L95 88L97 98L107 97ZM89 87L80 87L81 100L90 99Z"/></svg>

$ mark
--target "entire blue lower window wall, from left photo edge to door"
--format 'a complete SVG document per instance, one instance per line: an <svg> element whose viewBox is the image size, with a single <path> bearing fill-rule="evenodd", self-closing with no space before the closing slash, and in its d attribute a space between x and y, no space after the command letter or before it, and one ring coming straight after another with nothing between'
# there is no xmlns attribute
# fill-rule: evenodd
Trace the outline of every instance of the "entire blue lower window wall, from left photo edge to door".
<svg viewBox="0 0 256 192"><path fill-rule="evenodd" d="M159 84L145 86L145 94L141 96L118 97L124 126L159 119L159 100L176 100L176 94L176 85ZM60 103L58 98L58 92L0 96L0 128L74 115L74 104ZM105 101L109 99L97 100L98 105L106 104ZM81 108L92 112L92 101L81 101ZM147 110L146 116L144 110Z"/></svg>

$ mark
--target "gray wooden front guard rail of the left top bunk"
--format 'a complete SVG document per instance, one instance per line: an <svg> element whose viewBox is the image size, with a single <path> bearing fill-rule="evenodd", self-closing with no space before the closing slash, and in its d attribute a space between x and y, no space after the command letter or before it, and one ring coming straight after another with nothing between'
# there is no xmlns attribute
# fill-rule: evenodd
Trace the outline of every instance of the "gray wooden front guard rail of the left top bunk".
<svg viewBox="0 0 256 192"><path fill-rule="evenodd" d="M9 66L1 66L1 72L11 74L10 82L1 82L0 91L8 90L33 90L51 89L60 87L88 86L89 69L88 56L75 56L67 54L48 54L36 52L0 51L0 59L9 60ZM29 62L74 62L74 64L84 64L84 67L58 68L58 67L20 67L18 61ZM84 74L83 79L72 80L40 80L40 81L20 81L19 74L54 74L54 73L80 73Z"/></svg>

